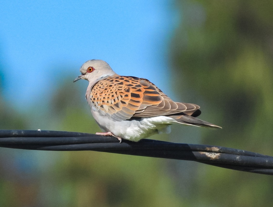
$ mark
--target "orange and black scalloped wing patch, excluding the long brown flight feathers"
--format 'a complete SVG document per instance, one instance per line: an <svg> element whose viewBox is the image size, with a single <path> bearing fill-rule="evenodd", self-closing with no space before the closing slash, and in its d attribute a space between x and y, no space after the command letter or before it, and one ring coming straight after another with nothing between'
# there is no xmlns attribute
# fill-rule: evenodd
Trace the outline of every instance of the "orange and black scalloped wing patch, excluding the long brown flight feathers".
<svg viewBox="0 0 273 207"><path fill-rule="evenodd" d="M130 76L108 77L97 82L90 94L91 102L102 115L120 121L133 117L136 111L157 105L163 97L153 85L142 85Z"/></svg>

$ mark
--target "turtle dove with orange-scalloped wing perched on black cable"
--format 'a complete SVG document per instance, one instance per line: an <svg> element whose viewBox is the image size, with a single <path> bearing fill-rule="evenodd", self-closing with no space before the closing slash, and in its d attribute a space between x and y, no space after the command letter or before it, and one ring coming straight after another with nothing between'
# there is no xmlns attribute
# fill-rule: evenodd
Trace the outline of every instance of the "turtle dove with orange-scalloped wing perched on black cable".
<svg viewBox="0 0 273 207"><path fill-rule="evenodd" d="M170 126L183 124L221 128L196 118L200 106L173 101L145 78L118 75L108 63L92 59L82 64L74 79L89 82L85 98L97 124L118 140L139 141L154 134L170 133Z"/></svg>

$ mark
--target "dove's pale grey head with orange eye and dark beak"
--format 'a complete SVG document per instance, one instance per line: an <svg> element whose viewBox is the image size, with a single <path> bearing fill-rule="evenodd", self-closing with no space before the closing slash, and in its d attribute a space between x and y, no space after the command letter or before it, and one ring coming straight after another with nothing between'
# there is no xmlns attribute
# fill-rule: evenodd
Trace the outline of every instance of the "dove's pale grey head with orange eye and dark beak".
<svg viewBox="0 0 273 207"><path fill-rule="evenodd" d="M79 79L88 80L89 83L94 83L108 76L117 75L112 68L103 60L88 60L80 68L81 75L74 79L73 82Z"/></svg>

